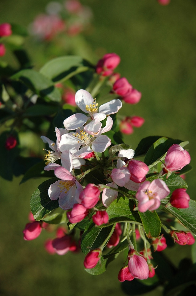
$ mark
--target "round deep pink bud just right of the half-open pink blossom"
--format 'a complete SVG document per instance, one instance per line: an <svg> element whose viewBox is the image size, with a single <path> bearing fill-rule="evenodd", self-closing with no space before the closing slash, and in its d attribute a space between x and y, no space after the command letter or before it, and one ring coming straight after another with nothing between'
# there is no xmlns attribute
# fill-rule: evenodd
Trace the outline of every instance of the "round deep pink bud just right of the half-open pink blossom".
<svg viewBox="0 0 196 296"><path fill-rule="evenodd" d="M173 207L185 209L189 207L190 197L185 188L178 188L172 192L170 203Z"/></svg>

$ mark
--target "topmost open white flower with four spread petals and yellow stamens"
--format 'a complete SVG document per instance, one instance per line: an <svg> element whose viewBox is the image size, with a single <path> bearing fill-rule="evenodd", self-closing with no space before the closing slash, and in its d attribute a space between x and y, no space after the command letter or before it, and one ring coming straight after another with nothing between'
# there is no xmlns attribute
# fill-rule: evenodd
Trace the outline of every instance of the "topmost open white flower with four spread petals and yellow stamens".
<svg viewBox="0 0 196 296"><path fill-rule="evenodd" d="M91 135L96 135L100 132L102 126L100 121L105 119L106 115L117 113L122 107L122 102L119 99L112 100L101 105L98 112L98 103L96 103L96 100L93 99L91 94L84 89L80 89L76 92L75 100L76 105L83 112L88 113L88 116L82 113L76 113L66 118L63 124L67 130L76 130L87 123L84 126L84 131Z"/></svg>

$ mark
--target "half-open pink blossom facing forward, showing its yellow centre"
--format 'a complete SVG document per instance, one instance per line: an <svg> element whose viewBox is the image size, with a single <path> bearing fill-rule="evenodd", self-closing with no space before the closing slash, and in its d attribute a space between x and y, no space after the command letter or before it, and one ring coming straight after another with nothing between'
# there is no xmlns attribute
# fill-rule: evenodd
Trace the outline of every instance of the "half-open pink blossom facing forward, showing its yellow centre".
<svg viewBox="0 0 196 296"><path fill-rule="evenodd" d="M170 194L166 183L161 179L154 179L151 183L144 182L139 187L135 197L138 200L140 212L153 211L159 208L161 199Z"/></svg>

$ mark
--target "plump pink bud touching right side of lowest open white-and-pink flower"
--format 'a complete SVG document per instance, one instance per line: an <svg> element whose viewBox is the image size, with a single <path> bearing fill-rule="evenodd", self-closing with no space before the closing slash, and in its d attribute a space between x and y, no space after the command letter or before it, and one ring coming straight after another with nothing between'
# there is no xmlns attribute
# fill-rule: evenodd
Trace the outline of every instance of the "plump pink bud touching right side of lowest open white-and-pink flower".
<svg viewBox="0 0 196 296"><path fill-rule="evenodd" d="M87 208L93 208L99 201L100 190L94 184L89 183L80 193L81 204Z"/></svg>

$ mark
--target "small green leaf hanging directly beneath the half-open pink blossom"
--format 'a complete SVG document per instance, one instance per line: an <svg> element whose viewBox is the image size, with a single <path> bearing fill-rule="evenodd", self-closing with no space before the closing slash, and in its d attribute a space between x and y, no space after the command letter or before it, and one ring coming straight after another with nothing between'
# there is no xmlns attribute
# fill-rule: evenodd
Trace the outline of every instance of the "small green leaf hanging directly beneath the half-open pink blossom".
<svg viewBox="0 0 196 296"><path fill-rule="evenodd" d="M146 211L145 213L139 212L142 220L144 230L148 238L158 237L161 232L161 220L156 211Z"/></svg>

